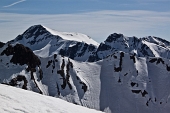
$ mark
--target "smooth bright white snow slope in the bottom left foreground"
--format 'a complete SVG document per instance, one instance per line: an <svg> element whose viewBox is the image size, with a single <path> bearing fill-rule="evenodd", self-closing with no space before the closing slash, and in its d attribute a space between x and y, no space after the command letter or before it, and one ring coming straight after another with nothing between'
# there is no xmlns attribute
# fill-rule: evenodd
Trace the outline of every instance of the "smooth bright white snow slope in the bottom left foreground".
<svg viewBox="0 0 170 113"><path fill-rule="evenodd" d="M1 113L102 113L64 100L0 84Z"/></svg>

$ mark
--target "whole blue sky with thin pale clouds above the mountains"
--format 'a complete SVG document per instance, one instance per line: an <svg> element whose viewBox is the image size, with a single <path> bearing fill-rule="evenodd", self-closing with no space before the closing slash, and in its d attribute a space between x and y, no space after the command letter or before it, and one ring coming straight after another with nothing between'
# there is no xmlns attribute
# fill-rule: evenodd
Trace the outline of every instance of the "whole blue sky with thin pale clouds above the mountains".
<svg viewBox="0 0 170 113"><path fill-rule="evenodd" d="M170 0L1 1L1 41L14 39L34 24L85 33L98 42L114 32L170 41Z"/></svg>

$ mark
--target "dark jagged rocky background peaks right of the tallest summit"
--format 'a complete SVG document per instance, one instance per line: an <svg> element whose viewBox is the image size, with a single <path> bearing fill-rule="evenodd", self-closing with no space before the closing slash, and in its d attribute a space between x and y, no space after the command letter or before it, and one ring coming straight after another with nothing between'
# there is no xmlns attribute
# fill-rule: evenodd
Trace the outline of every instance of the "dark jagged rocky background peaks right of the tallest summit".
<svg viewBox="0 0 170 113"><path fill-rule="evenodd" d="M158 37L125 37L123 34L111 34L101 43L89 61L97 61L106 58L108 55L123 51L139 57L163 57L170 58L170 42Z"/></svg>

